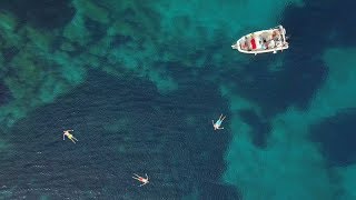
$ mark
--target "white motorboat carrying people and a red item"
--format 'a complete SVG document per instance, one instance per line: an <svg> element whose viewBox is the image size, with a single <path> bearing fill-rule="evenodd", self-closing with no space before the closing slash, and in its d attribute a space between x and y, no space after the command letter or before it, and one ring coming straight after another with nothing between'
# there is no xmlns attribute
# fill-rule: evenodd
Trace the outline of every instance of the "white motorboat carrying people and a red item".
<svg viewBox="0 0 356 200"><path fill-rule="evenodd" d="M243 53L266 53L288 49L286 29L281 26L244 36L231 46Z"/></svg>

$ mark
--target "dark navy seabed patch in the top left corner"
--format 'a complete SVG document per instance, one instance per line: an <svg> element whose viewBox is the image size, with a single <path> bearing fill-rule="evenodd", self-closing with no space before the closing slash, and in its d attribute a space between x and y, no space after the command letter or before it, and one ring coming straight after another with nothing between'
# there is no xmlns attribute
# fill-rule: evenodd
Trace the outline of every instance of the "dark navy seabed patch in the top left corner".
<svg viewBox="0 0 356 200"><path fill-rule="evenodd" d="M40 29L55 29L66 26L73 17L76 9L71 0L3 0L0 10L14 13L20 22L29 22Z"/></svg>

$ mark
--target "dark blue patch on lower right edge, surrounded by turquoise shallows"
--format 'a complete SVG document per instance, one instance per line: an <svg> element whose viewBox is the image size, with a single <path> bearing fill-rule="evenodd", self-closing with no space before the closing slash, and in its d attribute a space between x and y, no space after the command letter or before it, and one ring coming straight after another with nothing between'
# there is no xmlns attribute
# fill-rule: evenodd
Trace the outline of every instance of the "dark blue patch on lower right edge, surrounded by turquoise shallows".
<svg viewBox="0 0 356 200"><path fill-rule="evenodd" d="M356 162L356 110L346 110L313 126L310 138L319 143L330 166Z"/></svg>

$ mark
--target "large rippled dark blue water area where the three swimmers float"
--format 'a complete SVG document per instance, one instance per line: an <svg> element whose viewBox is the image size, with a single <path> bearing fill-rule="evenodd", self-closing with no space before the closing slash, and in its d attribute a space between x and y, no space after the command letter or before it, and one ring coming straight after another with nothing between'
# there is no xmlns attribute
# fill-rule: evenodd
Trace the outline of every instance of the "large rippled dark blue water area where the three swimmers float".
<svg viewBox="0 0 356 200"><path fill-rule="evenodd" d="M92 71L85 84L12 129L16 151L1 162L9 168L2 180L17 197L30 199L90 198L89 191L105 199L178 199L195 188L202 197L236 197L217 184L229 137L217 139L205 126L220 111L214 106L227 113L227 103L204 81L191 86L162 97L147 81ZM106 130L122 118L129 120L126 130ZM187 118L195 123L186 127ZM77 144L62 142L57 130L65 129L78 130ZM132 172L148 173L152 184L137 188Z"/></svg>

